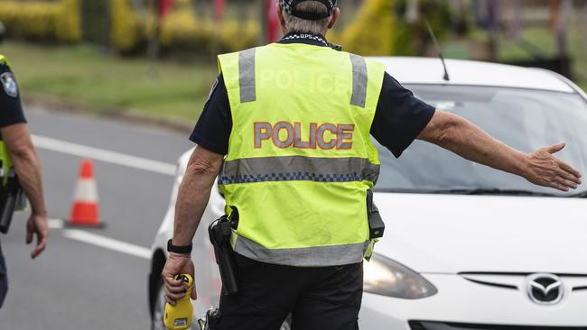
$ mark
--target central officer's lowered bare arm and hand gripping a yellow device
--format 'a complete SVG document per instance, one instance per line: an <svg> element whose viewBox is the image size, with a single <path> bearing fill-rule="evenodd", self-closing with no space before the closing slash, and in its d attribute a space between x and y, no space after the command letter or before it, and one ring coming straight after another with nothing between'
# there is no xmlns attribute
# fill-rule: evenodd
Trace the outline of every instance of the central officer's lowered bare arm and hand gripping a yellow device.
<svg viewBox="0 0 587 330"><path fill-rule="evenodd" d="M224 156L198 146L191 154L188 167L183 175L182 184L175 204L175 223L173 225L172 244L187 246L200 225L201 215L208 205L210 190L220 172ZM180 273L194 277L193 263L189 254L170 253L163 267L162 277L165 299L174 305L185 294L184 283L173 280ZM196 297L196 287L192 286L191 298Z"/></svg>

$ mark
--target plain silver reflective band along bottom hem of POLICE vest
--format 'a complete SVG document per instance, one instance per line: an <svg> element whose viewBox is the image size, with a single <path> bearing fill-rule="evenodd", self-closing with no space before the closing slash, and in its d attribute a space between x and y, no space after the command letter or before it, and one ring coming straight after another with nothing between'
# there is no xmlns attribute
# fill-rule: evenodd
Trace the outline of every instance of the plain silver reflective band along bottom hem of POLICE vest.
<svg viewBox="0 0 587 330"><path fill-rule="evenodd" d="M247 258L294 267L329 267L359 263L368 248L365 243L270 250L238 236L234 250Z"/></svg>

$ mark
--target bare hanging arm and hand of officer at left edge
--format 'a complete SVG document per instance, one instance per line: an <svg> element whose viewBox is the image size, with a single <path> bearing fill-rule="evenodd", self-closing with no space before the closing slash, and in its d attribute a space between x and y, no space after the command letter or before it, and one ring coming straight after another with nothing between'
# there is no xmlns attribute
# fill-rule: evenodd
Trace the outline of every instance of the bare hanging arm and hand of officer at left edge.
<svg viewBox="0 0 587 330"><path fill-rule="evenodd" d="M37 246L31 252L35 258L45 248L49 230L47 228L47 208L42 191L41 162L34 150L31 134L26 124L12 124L0 128L10 156L14 162L14 170L23 187L24 194L29 198L33 212L26 225L26 243L37 236Z"/></svg>

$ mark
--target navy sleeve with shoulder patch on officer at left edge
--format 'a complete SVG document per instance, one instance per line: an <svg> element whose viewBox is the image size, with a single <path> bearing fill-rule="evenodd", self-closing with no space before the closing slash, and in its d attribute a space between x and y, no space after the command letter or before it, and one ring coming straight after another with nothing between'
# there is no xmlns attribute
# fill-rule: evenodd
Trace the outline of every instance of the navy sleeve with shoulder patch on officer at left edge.
<svg viewBox="0 0 587 330"><path fill-rule="evenodd" d="M13 72L0 63L0 127L26 123Z"/></svg>

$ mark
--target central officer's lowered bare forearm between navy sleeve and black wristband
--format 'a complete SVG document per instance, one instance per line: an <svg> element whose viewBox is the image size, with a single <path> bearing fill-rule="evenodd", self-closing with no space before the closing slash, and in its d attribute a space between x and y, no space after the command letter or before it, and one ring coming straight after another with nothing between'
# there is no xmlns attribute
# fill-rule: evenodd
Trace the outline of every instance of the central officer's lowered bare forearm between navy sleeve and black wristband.
<svg viewBox="0 0 587 330"><path fill-rule="evenodd" d="M222 155L198 147L191 155L175 204L173 245L191 244L222 166Z"/></svg>

